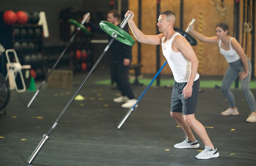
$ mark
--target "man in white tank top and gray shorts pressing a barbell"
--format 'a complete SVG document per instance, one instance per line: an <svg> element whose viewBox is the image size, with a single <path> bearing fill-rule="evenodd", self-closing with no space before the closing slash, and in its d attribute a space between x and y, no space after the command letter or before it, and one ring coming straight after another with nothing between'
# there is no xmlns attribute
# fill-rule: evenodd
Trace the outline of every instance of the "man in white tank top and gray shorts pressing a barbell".
<svg viewBox="0 0 256 166"><path fill-rule="evenodd" d="M158 18L158 30L162 34L145 35L133 21L134 13L127 11L125 16L132 14L128 24L136 39L145 44L162 44L163 54L171 67L175 82L172 90L171 116L178 122L186 134L186 140L174 145L175 148L198 148L199 144L191 128L205 144L205 149L197 159L218 157L217 148L212 145L204 126L196 120L196 102L200 80L197 74L198 59L188 41L173 30L176 16L172 11L163 11Z"/></svg>

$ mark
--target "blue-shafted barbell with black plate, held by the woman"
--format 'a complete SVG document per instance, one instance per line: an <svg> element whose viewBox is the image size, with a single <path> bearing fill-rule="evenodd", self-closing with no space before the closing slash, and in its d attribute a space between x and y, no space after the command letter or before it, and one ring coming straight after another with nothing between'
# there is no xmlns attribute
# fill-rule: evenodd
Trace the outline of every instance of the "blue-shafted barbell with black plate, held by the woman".
<svg viewBox="0 0 256 166"><path fill-rule="evenodd" d="M174 31L176 32L182 32L180 33L182 36L184 36L186 38L186 36L189 36L190 34L188 34L188 32L190 31L190 29L192 28L192 24L194 24L196 22L195 19L193 19L190 22L190 26L186 29L186 31L183 31L180 28L175 28L175 29L180 29L182 31L176 31L174 28ZM190 35L189 38L186 38L188 40L188 42L192 45L195 46L197 44L196 39ZM194 40L193 40L194 39ZM120 129L120 127L122 127L122 125L124 124L124 122L126 121L126 119L131 115L131 113L134 111L136 105L140 102L141 98L144 96L144 94L147 92L148 88L152 85L152 83L155 81L156 77L159 75L159 73L163 70L164 66L167 64L167 60L164 62L164 64L162 65L162 67L160 68L160 70L156 73L155 77L151 80L151 82L149 83L149 85L146 87L146 89L142 92L142 94L140 95L140 97L138 98L137 102L132 106L132 108L129 109L129 111L126 113L126 115L124 116L124 118L121 120L121 122L118 124L117 129Z"/></svg>

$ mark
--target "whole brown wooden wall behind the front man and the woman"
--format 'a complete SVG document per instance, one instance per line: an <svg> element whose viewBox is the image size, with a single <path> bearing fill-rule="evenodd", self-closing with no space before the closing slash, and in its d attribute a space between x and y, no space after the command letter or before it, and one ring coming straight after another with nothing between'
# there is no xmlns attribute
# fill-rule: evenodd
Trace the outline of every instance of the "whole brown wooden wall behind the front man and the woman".
<svg viewBox="0 0 256 166"><path fill-rule="evenodd" d="M218 1L216 1L218 2ZM214 36L215 26L217 23L225 22L229 26L230 36L233 36L234 24L234 0L225 0L227 4L227 12L225 16L220 16L216 6L210 4L208 0L183 0L183 30L186 30L188 23L194 18L196 19L195 29L199 31L199 15L202 14L202 31L206 36ZM129 10L135 11L135 23L138 25L138 0L129 0ZM242 20L242 4L240 1L240 22ZM142 0L141 9L141 31L145 34L156 34L156 0ZM172 10L176 14L177 20L175 27L180 26L180 0L160 0L160 11ZM251 9L255 10L255 9ZM254 18L255 19L255 18ZM241 43L240 32L240 43ZM135 38L134 38L135 39ZM197 40L199 43L199 40ZM247 56L251 59L251 34L248 34ZM135 47L136 48L136 47ZM201 75L222 76L228 67L225 58L220 54L217 44L209 44L203 42L201 46L197 44L193 49L200 60L201 69L198 70ZM202 49L202 53L199 53ZM133 59L138 56L137 49L133 50ZM255 52L256 53L256 52ZM165 58L160 49L161 64L164 64ZM156 46L141 45L141 63L143 67L142 73L156 73ZM171 73L169 65L166 65L161 73Z"/></svg>

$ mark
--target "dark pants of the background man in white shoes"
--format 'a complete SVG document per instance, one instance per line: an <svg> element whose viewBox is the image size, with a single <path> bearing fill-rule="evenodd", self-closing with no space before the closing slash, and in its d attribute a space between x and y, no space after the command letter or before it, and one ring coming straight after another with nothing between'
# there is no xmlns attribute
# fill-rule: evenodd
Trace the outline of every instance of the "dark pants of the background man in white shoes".
<svg viewBox="0 0 256 166"><path fill-rule="evenodd" d="M134 99L132 86L128 77L129 65L124 66L124 60L111 62L112 79L116 82L117 88L121 91L122 96Z"/></svg>

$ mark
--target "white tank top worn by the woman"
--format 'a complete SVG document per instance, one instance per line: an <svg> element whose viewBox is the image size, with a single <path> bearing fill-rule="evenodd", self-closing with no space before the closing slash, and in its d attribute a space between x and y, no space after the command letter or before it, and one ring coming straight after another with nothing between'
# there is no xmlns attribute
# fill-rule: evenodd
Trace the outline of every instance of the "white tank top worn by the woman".
<svg viewBox="0 0 256 166"><path fill-rule="evenodd" d="M235 38L231 37L229 39L230 50L225 50L225 49L220 48L220 54L222 54L226 58L228 63L232 63L232 62L235 62L240 59L240 56L237 54L236 50L233 49L231 46L232 39L235 39ZM220 44L221 44L221 40L219 41L219 47L220 47Z"/></svg>

